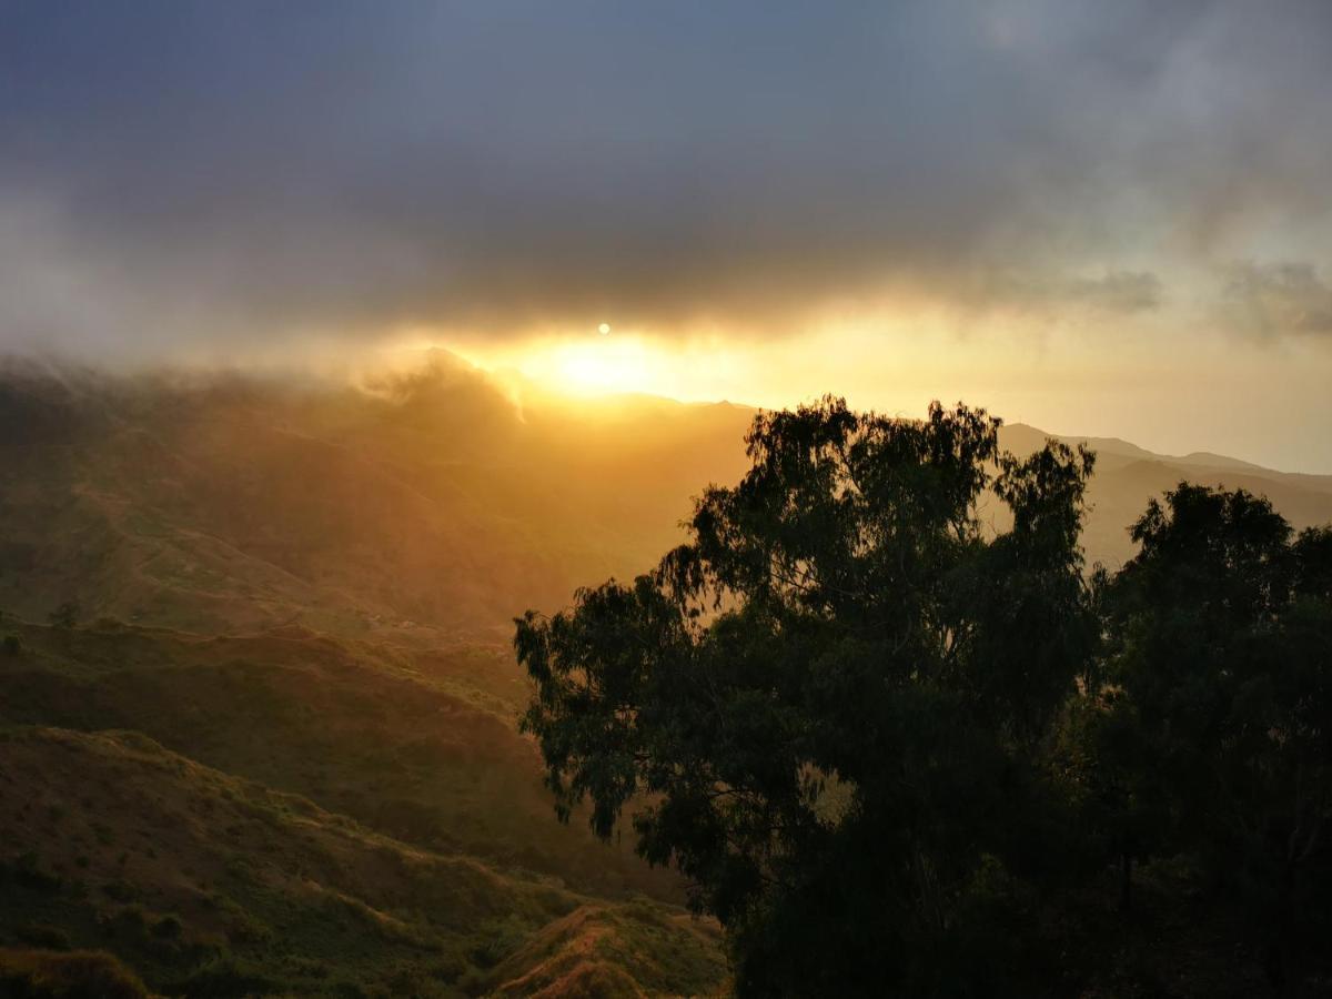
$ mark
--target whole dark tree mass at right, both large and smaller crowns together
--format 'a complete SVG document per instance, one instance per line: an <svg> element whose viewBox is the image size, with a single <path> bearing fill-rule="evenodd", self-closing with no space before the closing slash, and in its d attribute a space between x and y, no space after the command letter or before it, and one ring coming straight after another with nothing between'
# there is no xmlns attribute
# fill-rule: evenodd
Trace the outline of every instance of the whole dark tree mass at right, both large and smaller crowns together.
<svg viewBox="0 0 1332 999"><path fill-rule="evenodd" d="M1287 920L1273 983L1320 926L1329 531L1181 485L1088 573L1094 456L998 428L765 413L654 571L517 621L558 814L627 809L741 995L1068 994L1070 912L1180 851Z"/></svg>

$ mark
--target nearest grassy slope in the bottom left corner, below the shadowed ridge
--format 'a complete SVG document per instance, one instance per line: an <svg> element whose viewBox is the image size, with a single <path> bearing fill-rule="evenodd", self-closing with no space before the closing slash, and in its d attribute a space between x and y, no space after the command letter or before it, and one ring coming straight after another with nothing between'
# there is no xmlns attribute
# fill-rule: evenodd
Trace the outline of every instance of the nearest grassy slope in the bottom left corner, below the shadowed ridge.
<svg viewBox="0 0 1332 999"><path fill-rule="evenodd" d="M715 936L678 910L406 846L140 735L11 727L0 763L0 943L105 950L160 991L521 991L510 983L553 956L539 942L589 907L614 938L589 959L630 962L639 991L725 975ZM69 832L52 839L4 807L20 799L43 817L61 801Z"/></svg>

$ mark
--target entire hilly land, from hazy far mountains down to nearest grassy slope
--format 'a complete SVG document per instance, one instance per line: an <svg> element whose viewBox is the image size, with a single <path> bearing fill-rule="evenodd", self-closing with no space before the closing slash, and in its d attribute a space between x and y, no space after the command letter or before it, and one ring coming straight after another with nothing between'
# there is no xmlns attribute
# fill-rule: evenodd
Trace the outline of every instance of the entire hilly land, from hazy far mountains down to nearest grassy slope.
<svg viewBox="0 0 1332 999"><path fill-rule="evenodd" d="M682 539L754 413L519 405L444 353L361 385L5 362L0 940L56 927L186 994L722 988L673 874L550 821L507 641ZM1328 476L1086 442L1088 563L1183 478L1332 521Z"/></svg>

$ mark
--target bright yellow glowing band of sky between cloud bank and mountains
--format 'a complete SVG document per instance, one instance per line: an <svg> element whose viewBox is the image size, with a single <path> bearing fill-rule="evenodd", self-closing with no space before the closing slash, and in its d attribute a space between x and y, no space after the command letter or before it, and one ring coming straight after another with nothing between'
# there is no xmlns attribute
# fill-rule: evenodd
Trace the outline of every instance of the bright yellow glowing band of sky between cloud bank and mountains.
<svg viewBox="0 0 1332 999"><path fill-rule="evenodd" d="M503 340L404 329L389 349L409 366L421 350L444 348L486 372L519 406L563 400L595 404L601 412L610 397L643 394L782 408L834 392L860 409L920 416L930 400L963 400L1008 422L1126 436L1180 454L1211 440L1211 422L1223 416L1216 405L1177 390L1195 380L1197 350L1163 360L1159 332L1150 325L1111 330L1108 321L1104 328L1087 321L1074 330L1076 349L1055 349L1050 336L1035 336L1042 330L1022 317L991 316L962 330L948 313L910 308L834 316L786 337L714 328L663 334L613 324L611 316L597 318L601 322L581 330L547 326ZM1200 336L1193 344L1199 349ZM1233 376L1233 392L1252 392L1260 382L1288 385L1279 365L1275 356L1247 357L1245 370ZM1309 365L1311 392L1320 374ZM1168 392L1177 404L1164 420L1160 397ZM1131 418L1126 398L1134 400ZM1243 440L1240 429L1232 432L1236 440ZM1260 444L1255 436L1255 450Z"/></svg>

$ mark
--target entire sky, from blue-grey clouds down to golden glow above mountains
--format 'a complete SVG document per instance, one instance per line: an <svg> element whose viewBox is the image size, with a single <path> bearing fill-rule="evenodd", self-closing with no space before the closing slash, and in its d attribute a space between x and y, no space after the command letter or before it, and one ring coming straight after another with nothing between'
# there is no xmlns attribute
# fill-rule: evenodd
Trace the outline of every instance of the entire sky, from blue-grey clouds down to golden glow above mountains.
<svg viewBox="0 0 1332 999"><path fill-rule="evenodd" d="M0 350L1332 472L1328 52L1327 0L0 0Z"/></svg>

